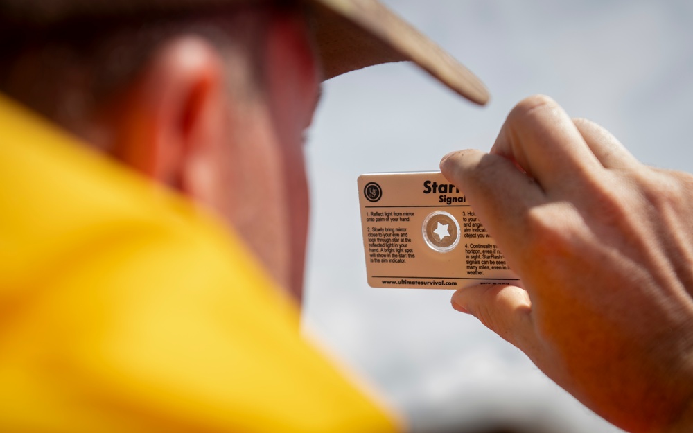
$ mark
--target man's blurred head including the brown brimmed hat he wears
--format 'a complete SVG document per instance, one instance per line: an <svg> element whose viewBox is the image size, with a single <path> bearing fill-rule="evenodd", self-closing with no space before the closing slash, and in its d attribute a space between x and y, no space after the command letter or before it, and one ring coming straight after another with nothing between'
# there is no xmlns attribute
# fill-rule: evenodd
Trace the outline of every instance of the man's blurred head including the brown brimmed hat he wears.
<svg viewBox="0 0 693 433"><path fill-rule="evenodd" d="M216 210L299 298L319 82L401 60L489 98L377 0L0 0L0 91Z"/></svg>

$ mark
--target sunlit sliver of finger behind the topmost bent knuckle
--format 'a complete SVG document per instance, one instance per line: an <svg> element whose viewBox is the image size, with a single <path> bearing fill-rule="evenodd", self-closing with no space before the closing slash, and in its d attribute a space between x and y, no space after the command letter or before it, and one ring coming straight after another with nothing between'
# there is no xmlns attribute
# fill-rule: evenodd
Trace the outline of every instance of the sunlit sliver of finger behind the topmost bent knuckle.
<svg viewBox="0 0 693 433"><path fill-rule="evenodd" d="M631 152L604 127L586 118L574 118L572 122L604 168L627 168L638 164Z"/></svg>

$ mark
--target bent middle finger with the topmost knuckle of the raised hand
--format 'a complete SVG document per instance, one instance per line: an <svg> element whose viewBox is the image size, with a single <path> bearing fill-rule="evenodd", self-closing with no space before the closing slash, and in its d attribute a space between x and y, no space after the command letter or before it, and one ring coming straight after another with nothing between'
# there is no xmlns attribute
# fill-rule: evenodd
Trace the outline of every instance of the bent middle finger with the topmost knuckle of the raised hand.
<svg viewBox="0 0 693 433"><path fill-rule="evenodd" d="M547 96L530 96L512 109L491 153L516 161L547 192L573 188L575 179L602 168L572 119Z"/></svg>

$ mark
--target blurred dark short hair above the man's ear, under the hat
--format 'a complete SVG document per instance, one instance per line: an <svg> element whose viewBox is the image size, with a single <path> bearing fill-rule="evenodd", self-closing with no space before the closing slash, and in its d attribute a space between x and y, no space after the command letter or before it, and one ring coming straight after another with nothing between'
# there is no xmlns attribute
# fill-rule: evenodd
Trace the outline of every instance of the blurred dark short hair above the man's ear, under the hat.
<svg viewBox="0 0 693 433"><path fill-rule="evenodd" d="M229 66L236 63L229 91L250 98L263 91L261 48L270 14L293 10L295 3L286 1L253 2L8 26L0 32L0 91L70 127L132 82L157 46L193 34L218 46ZM238 62L246 63L246 76L238 76Z"/></svg>

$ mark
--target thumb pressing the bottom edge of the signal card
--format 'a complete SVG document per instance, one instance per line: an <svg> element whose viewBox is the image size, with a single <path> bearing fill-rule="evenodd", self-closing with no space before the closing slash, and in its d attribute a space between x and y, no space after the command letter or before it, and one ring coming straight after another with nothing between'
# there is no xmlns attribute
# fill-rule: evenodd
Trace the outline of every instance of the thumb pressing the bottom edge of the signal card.
<svg viewBox="0 0 693 433"><path fill-rule="evenodd" d="M529 351L536 345L532 303L525 290L514 285L475 285L457 290L452 303L520 350Z"/></svg>

